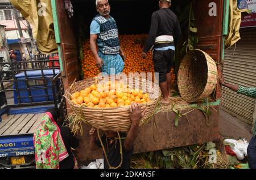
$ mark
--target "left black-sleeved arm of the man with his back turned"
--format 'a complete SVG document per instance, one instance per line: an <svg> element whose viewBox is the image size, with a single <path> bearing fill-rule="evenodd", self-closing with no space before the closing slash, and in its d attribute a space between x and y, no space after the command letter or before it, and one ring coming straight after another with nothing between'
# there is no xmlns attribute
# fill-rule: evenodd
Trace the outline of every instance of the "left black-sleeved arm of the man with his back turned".
<svg viewBox="0 0 256 180"><path fill-rule="evenodd" d="M143 49L143 53L147 53L155 44L156 32L158 31L158 18L155 13L151 16L150 32L146 40L146 44Z"/></svg>

